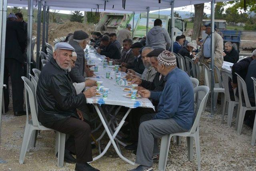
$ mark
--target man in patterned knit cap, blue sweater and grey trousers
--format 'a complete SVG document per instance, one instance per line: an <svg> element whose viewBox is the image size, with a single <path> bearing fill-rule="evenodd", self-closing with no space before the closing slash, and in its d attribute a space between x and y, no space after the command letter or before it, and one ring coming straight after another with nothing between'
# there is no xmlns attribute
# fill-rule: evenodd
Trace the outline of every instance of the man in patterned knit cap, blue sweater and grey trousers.
<svg viewBox="0 0 256 171"><path fill-rule="evenodd" d="M194 118L194 91L188 74L176 66L176 57L165 50L158 56L158 72L166 82L161 92L140 90L142 97L159 100L158 112L140 119L136 163L132 171L152 171L152 156L158 154L157 139L171 133L186 132Z"/></svg>

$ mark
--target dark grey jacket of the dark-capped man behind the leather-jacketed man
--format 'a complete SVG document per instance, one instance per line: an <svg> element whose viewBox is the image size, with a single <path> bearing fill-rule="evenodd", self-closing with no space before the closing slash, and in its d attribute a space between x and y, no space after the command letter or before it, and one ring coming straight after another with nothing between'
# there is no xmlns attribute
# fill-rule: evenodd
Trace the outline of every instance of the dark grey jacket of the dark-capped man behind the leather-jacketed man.
<svg viewBox="0 0 256 171"><path fill-rule="evenodd" d="M81 48L81 46L78 44L78 42L74 42L73 40L70 40L69 44L73 46L73 48L76 51L77 59L75 62L74 68L70 71L70 78L72 82L74 83L81 83L85 82L84 78L84 65L85 65L85 58L84 58L84 50Z"/></svg>

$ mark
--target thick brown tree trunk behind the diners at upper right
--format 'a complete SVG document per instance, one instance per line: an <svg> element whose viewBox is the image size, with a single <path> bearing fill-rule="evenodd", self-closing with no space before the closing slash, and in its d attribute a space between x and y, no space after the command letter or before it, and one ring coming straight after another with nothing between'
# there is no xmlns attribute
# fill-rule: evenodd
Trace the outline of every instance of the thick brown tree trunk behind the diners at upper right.
<svg viewBox="0 0 256 171"><path fill-rule="evenodd" d="M201 32L201 25L202 25L203 14L204 14L204 3L195 4L194 8L195 8L195 14L194 14L192 40L196 40L196 38L198 38Z"/></svg>

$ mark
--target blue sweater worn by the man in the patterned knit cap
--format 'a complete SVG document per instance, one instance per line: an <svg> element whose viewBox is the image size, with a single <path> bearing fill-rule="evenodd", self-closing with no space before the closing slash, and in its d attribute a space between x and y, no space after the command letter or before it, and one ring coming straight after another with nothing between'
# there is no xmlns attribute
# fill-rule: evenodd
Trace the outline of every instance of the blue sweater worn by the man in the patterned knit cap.
<svg viewBox="0 0 256 171"><path fill-rule="evenodd" d="M192 82L184 71L177 67L165 77L162 92L150 92L150 98L159 100L158 113L153 119L170 119L189 130L194 119L194 90Z"/></svg>

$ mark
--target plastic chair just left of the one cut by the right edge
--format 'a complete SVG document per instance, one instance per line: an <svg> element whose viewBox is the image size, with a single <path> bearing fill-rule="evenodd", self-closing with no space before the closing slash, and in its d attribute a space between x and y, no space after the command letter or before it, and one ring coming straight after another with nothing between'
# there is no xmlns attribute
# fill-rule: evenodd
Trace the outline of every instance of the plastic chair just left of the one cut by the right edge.
<svg viewBox="0 0 256 171"><path fill-rule="evenodd" d="M256 110L256 107L252 106L248 93L247 93L247 88L246 88L246 83L244 80L237 74L237 85L238 85L238 94L239 94L239 115L237 116L238 122L237 122L237 134L240 135L242 131L242 126L244 122L244 115L247 110Z"/></svg>

